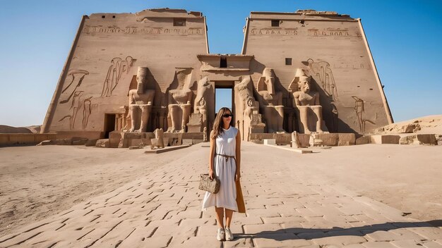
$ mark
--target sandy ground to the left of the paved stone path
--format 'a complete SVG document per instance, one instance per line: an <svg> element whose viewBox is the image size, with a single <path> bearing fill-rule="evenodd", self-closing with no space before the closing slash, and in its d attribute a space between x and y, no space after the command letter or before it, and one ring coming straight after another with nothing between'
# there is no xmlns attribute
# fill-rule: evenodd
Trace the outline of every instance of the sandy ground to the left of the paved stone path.
<svg viewBox="0 0 442 248"><path fill-rule="evenodd" d="M186 153L84 146L0 148L0 236L112 191Z"/></svg>

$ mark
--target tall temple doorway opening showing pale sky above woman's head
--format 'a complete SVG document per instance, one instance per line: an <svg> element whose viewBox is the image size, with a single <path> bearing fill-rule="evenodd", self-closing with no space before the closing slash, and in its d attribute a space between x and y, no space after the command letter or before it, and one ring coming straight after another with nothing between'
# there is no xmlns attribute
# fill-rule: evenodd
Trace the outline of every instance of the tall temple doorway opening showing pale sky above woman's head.
<svg viewBox="0 0 442 248"><path fill-rule="evenodd" d="M227 107L234 113L234 81L217 81L215 82L215 116L221 107ZM214 116L214 118L215 118ZM235 117L232 118L234 125Z"/></svg>

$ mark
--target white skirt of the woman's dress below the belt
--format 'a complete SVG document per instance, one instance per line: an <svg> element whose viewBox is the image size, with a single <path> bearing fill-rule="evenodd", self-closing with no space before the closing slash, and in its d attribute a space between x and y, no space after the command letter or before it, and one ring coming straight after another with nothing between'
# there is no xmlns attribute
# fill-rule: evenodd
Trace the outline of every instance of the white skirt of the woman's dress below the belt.
<svg viewBox="0 0 442 248"><path fill-rule="evenodd" d="M215 155L215 173L220 179L220 191L216 194L205 192L203 199L203 211L210 206L222 207L238 211L237 185L235 184L235 173L237 165L234 159L225 159L223 156Z"/></svg>

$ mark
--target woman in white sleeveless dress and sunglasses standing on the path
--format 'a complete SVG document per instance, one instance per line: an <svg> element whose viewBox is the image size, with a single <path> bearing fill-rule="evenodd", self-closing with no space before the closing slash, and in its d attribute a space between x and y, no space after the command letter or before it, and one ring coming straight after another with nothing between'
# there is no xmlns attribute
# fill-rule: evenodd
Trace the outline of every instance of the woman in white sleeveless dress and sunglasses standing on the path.
<svg viewBox="0 0 442 248"><path fill-rule="evenodd" d="M245 213L239 178L241 178L241 135L230 125L232 111L223 107L218 111L210 132L209 175L221 181L217 194L205 192L203 210L215 206L218 223L217 240L233 240L230 223L234 211ZM226 225L224 225L224 212Z"/></svg>

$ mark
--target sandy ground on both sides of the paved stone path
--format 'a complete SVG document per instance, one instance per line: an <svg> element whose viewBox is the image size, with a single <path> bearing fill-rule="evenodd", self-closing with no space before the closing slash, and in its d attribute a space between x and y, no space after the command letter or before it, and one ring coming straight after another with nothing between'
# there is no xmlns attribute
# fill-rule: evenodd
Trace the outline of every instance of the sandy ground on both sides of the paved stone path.
<svg viewBox="0 0 442 248"><path fill-rule="evenodd" d="M193 149L208 148L200 144L149 155L83 146L1 148L0 237L141 178ZM288 164L283 173L346 187L421 221L442 219L442 146L366 144L296 154L246 142L242 149L253 163ZM253 170L253 164L243 165Z"/></svg>

